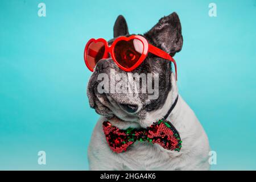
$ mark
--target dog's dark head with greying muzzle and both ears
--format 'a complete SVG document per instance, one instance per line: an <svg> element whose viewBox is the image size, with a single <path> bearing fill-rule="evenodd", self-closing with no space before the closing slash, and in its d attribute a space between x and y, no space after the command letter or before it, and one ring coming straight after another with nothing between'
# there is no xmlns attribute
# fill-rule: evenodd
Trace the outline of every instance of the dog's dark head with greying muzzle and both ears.
<svg viewBox="0 0 256 182"><path fill-rule="evenodd" d="M118 36L130 36L126 20L121 15L115 21L114 39L109 40L109 45ZM183 45L179 16L176 13L164 16L142 36L148 43L174 56ZM106 79L105 76L109 78ZM129 79L129 76L139 76L139 79L135 77ZM161 117L161 114L159 115L157 114L159 112L155 111L162 109L166 103L168 94L172 90L172 82L175 82L173 77L171 62L151 53L148 53L142 64L131 72L120 69L112 58L102 59L96 64L88 83L87 94L90 107L119 126L124 126L125 123L130 125L137 123L135 125L142 127L149 126ZM102 81L105 81L105 85L102 84ZM139 89L134 92L135 89L131 89L131 85L136 84ZM118 89L109 88L111 85L118 86L121 90L129 90L130 87L132 92L120 92ZM107 92L102 93L101 89ZM150 89L151 92L148 92ZM147 92L142 92L143 90L147 90ZM148 118L149 113L154 113L159 118L148 121L148 119L152 119ZM162 116L164 114L166 113L162 113Z"/></svg>

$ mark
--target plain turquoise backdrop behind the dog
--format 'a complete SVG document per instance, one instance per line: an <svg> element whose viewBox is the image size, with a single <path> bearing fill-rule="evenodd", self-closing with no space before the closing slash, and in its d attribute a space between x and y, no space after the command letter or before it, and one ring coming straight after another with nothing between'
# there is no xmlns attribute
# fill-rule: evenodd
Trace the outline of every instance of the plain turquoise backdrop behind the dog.
<svg viewBox="0 0 256 182"><path fill-rule="evenodd" d="M46 17L38 4L46 3ZM208 15L209 3L217 17ZM90 109L90 38L111 39L119 14L143 33L176 11L179 90L208 134L212 169L256 169L256 1L0 1L0 169L88 169L99 115ZM38 151L47 164L39 165Z"/></svg>

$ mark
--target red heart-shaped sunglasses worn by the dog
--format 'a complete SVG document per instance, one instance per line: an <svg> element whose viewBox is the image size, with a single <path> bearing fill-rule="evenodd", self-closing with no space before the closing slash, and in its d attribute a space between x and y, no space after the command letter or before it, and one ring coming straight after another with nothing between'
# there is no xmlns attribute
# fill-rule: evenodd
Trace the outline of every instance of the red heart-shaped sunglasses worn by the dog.
<svg viewBox="0 0 256 182"><path fill-rule="evenodd" d="M128 38L126 36L120 36L114 40L110 47L105 39L90 39L84 49L84 60L88 69L93 72L97 62L101 59L109 58L110 53L119 68L123 71L130 72L146 59L148 52L174 63L177 80L175 60L167 52L148 44L147 40L140 35L131 35Z"/></svg>

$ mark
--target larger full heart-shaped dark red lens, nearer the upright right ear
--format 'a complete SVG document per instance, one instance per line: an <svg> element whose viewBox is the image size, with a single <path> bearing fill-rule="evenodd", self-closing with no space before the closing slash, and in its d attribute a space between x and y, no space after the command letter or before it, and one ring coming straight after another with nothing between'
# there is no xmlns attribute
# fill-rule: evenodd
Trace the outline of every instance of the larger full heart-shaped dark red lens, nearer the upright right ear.
<svg viewBox="0 0 256 182"><path fill-rule="evenodd" d="M139 39L120 40L114 47L115 60L122 67L131 68L141 57L143 49L143 43Z"/></svg>

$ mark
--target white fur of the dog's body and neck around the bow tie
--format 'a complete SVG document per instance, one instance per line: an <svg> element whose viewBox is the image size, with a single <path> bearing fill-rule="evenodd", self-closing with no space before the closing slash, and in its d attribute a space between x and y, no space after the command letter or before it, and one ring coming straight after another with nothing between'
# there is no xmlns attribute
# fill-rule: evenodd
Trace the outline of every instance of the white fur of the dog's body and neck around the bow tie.
<svg viewBox="0 0 256 182"><path fill-rule="evenodd" d="M177 97L177 85L172 74L172 90L166 103L159 109L147 114L139 121L141 126L150 126L162 118ZM166 150L158 144L135 142L129 150L117 154L110 150L102 130L101 117L94 128L88 148L91 170L208 170L209 142L207 135L191 108L179 95L168 121L175 126L183 141L180 152ZM117 125L115 125L117 126ZM127 127L130 123L127 122ZM118 127L118 126L117 126ZM123 127L123 126L122 126ZM123 127L125 128L125 127Z"/></svg>

